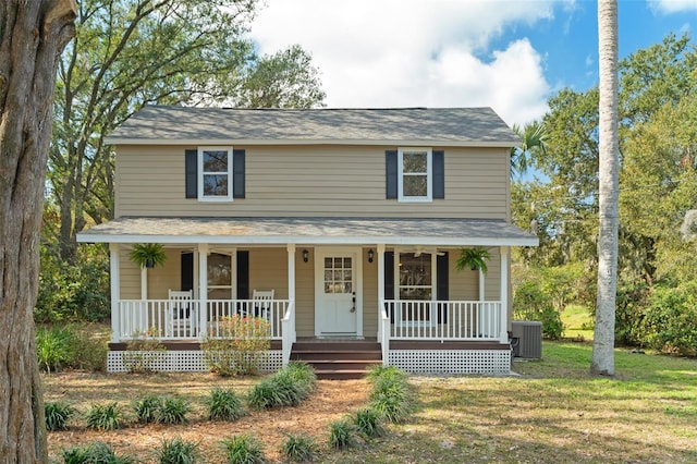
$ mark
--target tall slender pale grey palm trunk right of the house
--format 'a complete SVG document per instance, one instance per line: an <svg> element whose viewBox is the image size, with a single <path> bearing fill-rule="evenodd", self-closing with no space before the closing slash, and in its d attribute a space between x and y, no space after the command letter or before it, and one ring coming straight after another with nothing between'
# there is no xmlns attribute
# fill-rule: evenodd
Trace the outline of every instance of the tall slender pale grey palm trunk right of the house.
<svg viewBox="0 0 697 464"><path fill-rule="evenodd" d="M617 2L598 1L600 64L598 301L590 370L614 375L614 312L617 289L619 168Z"/></svg>

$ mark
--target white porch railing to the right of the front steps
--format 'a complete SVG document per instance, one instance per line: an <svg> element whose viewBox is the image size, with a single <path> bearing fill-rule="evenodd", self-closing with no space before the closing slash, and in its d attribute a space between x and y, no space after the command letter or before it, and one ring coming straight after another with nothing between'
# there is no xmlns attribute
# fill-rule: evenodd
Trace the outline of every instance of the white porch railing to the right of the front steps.
<svg viewBox="0 0 697 464"><path fill-rule="evenodd" d="M391 340L481 341L501 338L501 302L388 300L382 307L382 338L386 332Z"/></svg>

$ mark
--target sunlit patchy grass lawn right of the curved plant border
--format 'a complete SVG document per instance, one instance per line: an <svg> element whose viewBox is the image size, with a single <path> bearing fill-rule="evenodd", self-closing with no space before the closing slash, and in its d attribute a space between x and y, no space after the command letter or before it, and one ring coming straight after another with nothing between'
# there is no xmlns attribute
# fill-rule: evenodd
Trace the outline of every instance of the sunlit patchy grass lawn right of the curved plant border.
<svg viewBox="0 0 697 464"><path fill-rule="evenodd" d="M543 344L521 377L414 377L418 407L389 438L335 463L694 463L697 361L616 351L588 374L588 344Z"/></svg>

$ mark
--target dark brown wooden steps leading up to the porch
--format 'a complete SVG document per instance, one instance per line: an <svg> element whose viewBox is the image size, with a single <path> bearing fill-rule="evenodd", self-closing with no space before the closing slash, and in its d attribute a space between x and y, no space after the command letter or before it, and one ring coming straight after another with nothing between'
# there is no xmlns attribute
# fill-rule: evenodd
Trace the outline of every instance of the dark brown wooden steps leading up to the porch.
<svg viewBox="0 0 697 464"><path fill-rule="evenodd" d="M382 364L379 343L305 341L293 344L291 359L311 365L318 379L360 379L370 366Z"/></svg>

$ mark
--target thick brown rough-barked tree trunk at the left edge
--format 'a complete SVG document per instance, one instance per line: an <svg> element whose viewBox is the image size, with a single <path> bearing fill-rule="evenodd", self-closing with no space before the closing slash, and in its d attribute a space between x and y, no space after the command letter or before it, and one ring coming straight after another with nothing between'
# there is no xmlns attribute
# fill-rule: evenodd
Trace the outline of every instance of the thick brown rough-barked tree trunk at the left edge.
<svg viewBox="0 0 697 464"><path fill-rule="evenodd" d="M74 0L0 2L0 463L48 461L34 305L58 59Z"/></svg>

